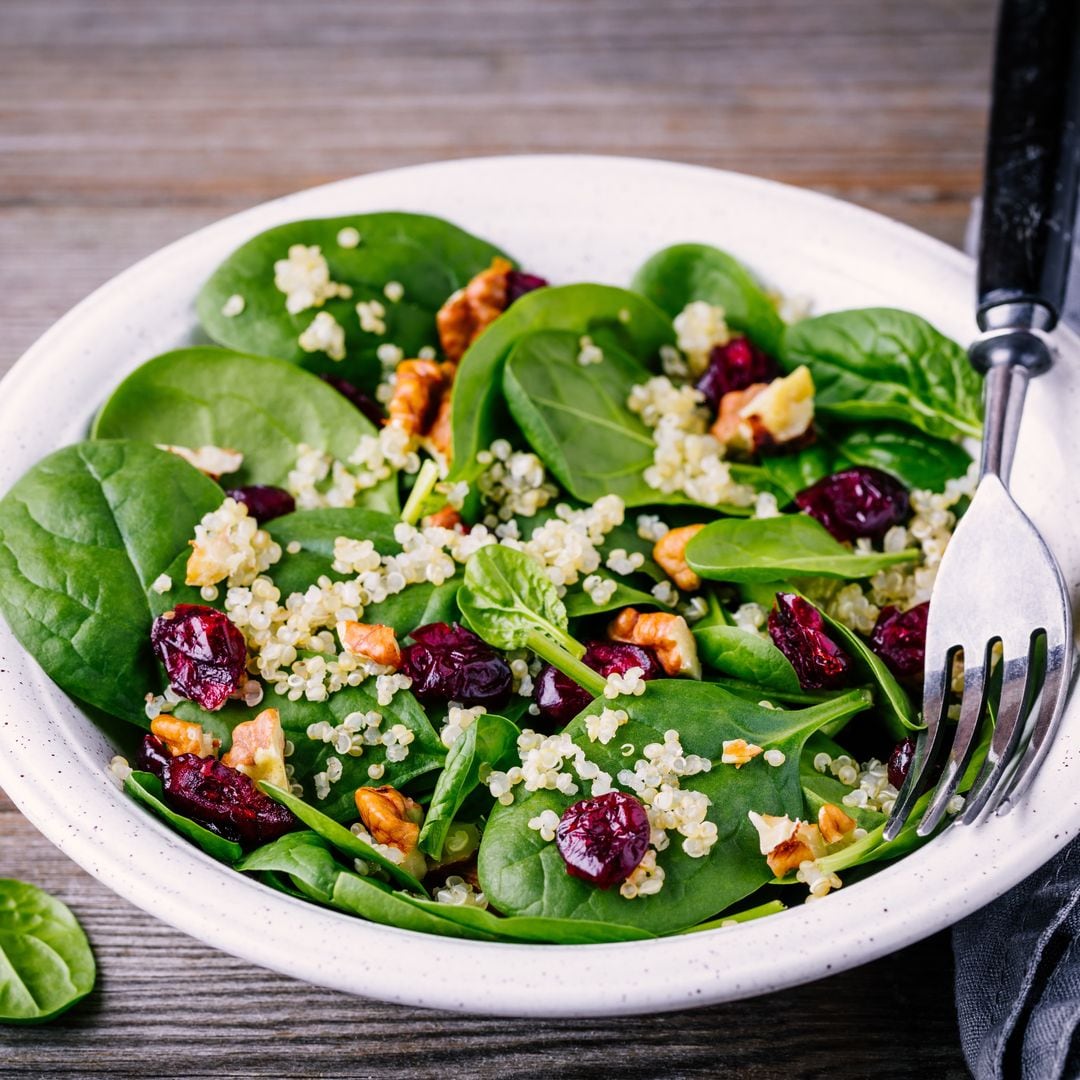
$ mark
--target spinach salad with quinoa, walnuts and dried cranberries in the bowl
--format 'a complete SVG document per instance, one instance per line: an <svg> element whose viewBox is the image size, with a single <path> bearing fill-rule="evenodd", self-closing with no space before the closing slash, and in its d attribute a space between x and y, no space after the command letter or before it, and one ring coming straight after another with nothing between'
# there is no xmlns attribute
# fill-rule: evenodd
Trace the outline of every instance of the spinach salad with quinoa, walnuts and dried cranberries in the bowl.
<svg viewBox="0 0 1080 1080"><path fill-rule="evenodd" d="M542 269L413 214L255 237L214 343L0 500L0 611L127 721L132 799L292 896L556 943L819 901L923 842L882 828L980 381L715 247Z"/></svg>

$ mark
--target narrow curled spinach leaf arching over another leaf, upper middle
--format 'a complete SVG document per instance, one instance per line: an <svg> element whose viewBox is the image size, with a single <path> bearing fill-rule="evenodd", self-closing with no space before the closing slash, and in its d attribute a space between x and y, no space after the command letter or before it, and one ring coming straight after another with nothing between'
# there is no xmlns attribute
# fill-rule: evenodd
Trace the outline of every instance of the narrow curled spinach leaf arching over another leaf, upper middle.
<svg viewBox="0 0 1080 1080"><path fill-rule="evenodd" d="M610 285L539 288L516 300L461 359L450 400L454 453L450 480L472 481L482 465L476 455L504 426L502 366L517 340L542 329L572 330L620 345L649 361L662 345L674 345L671 320L635 293Z"/></svg>

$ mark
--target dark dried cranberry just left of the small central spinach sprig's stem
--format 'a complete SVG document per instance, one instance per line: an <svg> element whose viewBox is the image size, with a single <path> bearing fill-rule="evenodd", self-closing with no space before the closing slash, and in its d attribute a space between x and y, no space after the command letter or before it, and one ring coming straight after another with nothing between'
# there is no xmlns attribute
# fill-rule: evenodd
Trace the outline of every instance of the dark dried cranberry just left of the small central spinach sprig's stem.
<svg viewBox="0 0 1080 1080"><path fill-rule="evenodd" d="M409 636L415 644L402 649L402 671L424 704L498 708L505 703L513 686L510 664L471 630L432 622Z"/></svg>

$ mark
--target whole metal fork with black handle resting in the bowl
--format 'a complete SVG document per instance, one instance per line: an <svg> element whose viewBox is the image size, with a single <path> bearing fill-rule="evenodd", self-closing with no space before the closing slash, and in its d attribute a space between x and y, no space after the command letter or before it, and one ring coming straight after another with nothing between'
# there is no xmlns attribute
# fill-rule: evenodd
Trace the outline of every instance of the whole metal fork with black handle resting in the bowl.
<svg viewBox="0 0 1080 1080"><path fill-rule="evenodd" d="M1053 554L1009 494L1028 381L1053 362L1047 335L1065 296L1080 176L1080 5L1004 0L978 255L978 325L970 349L985 375L980 481L942 559L930 605L922 715L907 778L886 825L894 839L930 786L947 742L954 661L963 654L959 718L916 832L932 833L957 794L981 721L986 759L964 824L1007 812L1039 768L1061 718L1072 663L1069 596ZM996 646L1000 693L990 697Z"/></svg>

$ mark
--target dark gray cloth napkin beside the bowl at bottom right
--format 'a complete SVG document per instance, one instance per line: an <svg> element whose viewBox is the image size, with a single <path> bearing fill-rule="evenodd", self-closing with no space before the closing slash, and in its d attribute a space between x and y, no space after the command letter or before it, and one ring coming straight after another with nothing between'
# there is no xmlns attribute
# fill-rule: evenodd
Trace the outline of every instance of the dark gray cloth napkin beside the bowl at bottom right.
<svg viewBox="0 0 1080 1080"><path fill-rule="evenodd" d="M974 241L970 228L969 251ZM1077 258L1065 318L1080 329ZM960 1040L975 1080L1080 1078L1080 839L957 923L953 951Z"/></svg>

